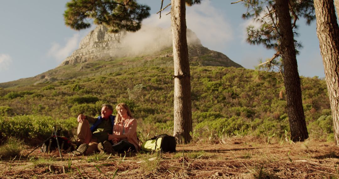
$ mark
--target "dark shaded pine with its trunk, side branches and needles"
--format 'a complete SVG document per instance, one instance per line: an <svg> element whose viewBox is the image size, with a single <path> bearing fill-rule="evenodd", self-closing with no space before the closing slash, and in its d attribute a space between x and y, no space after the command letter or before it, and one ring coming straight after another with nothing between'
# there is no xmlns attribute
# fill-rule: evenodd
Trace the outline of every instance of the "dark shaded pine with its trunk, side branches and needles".
<svg viewBox="0 0 339 179"><path fill-rule="evenodd" d="M247 7L243 18L253 18L259 24L259 26L247 27L247 42L263 44L266 48L276 51L271 59L260 65L266 65L266 69L275 69L274 66L278 66L283 75L286 90L291 139L304 141L308 138L308 132L296 59L298 53L296 48L301 47L301 44L294 40L294 36L297 35L296 22L300 17L306 18L308 24L315 18L313 2L308 0L243 0L242 3Z"/></svg>

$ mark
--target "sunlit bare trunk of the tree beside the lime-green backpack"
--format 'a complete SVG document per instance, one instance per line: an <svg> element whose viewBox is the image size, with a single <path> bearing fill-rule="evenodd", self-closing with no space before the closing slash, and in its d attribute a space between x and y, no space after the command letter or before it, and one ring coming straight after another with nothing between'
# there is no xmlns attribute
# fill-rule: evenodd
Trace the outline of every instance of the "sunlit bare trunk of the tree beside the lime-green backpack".
<svg viewBox="0 0 339 179"><path fill-rule="evenodd" d="M191 77L186 39L185 0L172 0L171 27L174 60L174 137L190 142L192 132Z"/></svg>

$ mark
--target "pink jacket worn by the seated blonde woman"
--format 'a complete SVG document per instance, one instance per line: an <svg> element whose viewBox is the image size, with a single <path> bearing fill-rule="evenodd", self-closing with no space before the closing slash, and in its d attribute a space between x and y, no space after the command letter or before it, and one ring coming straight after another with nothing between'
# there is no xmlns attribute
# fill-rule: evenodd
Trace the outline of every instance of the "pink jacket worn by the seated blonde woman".
<svg viewBox="0 0 339 179"><path fill-rule="evenodd" d="M127 141L134 145L135 150L139 151L139 141L137 139L137 120L134 118L126 119L125 126L122 126L122 122L115 123L113 126L113 135L122 135L123 127L125 128L125 136ZM119 142L121 139L113 139Z"/></svg>

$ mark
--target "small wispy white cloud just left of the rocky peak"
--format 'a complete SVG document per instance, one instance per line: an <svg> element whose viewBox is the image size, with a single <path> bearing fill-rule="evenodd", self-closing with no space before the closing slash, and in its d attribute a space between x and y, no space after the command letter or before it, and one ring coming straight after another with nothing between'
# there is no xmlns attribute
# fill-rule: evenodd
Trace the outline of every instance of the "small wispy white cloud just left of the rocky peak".
<svg viewBox="0 0 339 179"><path fill-rule="evenodd" d="M79 37L79 33L74 34L72 38L66 40L66 44L64 46L53 42L52 47L47 52L47 55L55 58L58 62L61 62L78 48L80 42Z"/></svg>

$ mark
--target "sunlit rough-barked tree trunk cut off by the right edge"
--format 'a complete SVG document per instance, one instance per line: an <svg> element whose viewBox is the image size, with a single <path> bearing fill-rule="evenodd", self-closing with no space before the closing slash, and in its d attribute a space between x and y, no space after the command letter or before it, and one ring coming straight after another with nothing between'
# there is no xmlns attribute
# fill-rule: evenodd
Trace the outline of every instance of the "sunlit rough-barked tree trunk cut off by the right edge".
<svg viewBox="0 0 339 179"><path fill-rule="evenodd" d="M314 0L314 7L320 53L331 103L334 138L339 146L339 26L333 0Z"/></svg>

